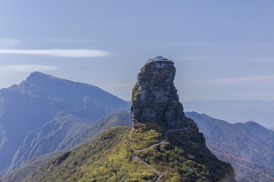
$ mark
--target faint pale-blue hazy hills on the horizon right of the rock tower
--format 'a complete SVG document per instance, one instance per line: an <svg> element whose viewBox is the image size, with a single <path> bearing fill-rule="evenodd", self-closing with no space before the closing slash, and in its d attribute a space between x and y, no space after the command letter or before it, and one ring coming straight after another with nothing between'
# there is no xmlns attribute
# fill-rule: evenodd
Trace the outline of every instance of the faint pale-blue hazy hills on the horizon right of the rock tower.
<svg viewBox="0 0 274 182"><path fill-rule="evenodd" d="M230 123L255 121L274 127L274 101L189 101L185 111L204 113Z"/></svg>

